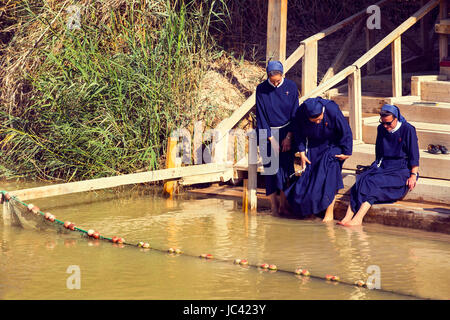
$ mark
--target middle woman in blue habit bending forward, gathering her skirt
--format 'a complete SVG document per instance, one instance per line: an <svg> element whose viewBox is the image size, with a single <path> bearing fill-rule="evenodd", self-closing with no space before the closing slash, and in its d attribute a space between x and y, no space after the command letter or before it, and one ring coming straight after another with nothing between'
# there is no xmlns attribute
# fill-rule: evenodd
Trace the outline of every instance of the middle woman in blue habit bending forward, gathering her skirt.
<svg viewBox="0 0 450 320"><path fill-rule="evenodd" d="M288 203L294 215L325 211L323 221L332 221L336 193L344 187L342 165L352 154L352 131L339 106L321 97L303 102L294 121L303 172L285 190Z"/></svg>

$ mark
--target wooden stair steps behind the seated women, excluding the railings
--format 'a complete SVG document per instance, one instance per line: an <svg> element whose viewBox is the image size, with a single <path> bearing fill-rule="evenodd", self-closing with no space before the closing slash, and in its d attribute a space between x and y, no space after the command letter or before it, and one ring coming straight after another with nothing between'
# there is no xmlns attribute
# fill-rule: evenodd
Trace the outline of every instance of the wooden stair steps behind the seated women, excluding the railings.
<svg viewBox="0 0 450 320"><path fill-rule="evenodd" d="M405 200L449 204L450 154L431 154L427 152L427 146L440 144L450 149L450 81L446 75L432 75L431 72L409 76L409 81L403 81L403 92L411 94L398 99L386 95L385 75L372 75L366 80L371 90L376 90L379 83L377 91L381 92L362 93L362 142L354 145L352 157L344 163L344 191L355 182L356 166L369 165L374 160L376 128L379 125L379 115L375 113L384 103L393 103L416 128L419 139L420 180ZM332 91L334 94L330 99L337 102L346 115L349 113L346 87L341 87L340 91Z"/></svg>

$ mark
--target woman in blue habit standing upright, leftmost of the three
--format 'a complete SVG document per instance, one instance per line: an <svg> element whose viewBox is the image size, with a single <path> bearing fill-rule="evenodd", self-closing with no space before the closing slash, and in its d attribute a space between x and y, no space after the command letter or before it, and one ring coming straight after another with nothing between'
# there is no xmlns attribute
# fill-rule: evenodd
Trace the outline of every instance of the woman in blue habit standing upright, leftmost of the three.
<svg viewBox="0 0 450 320"><path fill-rule="evenodd" d="M294 173L291 122L299 107L298 89L294 81L283 78L283 65L280 61L269 61L266 71L267 81L260 83L256 88L258 145L263 159L266 195L270 196L272 214L283 214L287 211L283 190L289 176ZM273 161L272 164L272 160L278 161ZM277 162L278 168L275 168L276 173L273 173L272 165L276 165Z"/></svg>

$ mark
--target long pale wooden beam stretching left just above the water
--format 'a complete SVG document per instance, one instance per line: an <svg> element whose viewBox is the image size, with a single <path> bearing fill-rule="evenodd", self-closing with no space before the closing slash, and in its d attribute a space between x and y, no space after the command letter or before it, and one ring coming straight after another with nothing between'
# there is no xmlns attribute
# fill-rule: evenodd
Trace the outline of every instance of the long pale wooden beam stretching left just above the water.
<svg viewBox="0 0 450 320"><path fill-rule="evenodd" d="M24 201L29 199L47 198L70 193L114 188L130 184L179 179L182 177L205 175L208 173L225 172L227 169L228 168L224 164L208 163L196 166L131 173L122 176L106 177L24 190L16 190L9 193Z"/></svg>

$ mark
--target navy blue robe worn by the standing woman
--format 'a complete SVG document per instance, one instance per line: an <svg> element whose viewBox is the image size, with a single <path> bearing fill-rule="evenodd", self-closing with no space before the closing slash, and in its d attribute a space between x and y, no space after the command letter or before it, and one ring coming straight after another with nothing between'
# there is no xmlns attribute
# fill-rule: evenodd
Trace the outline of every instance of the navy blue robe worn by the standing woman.
<svg viewBox="0 0 450 320"><path fill-rule="evenodd" d="M278 171L276 174L265 175L266 195L283 190L289 176L294 172L294 151L291 149L281 152L281 142L286 138L287 133L292 131L292 120L298 108L298 89L294 81L283 79L283 83L275 88L266 80L257 86L256 129L260 151L267 150L267 152L261 152L265 169L271 166L270 156L273 152L268 138L276 137L278 132L280 145ZM267 133L265 139L261 139L262 129L265 129Z"/></svg>

